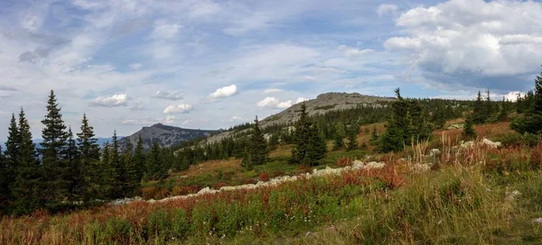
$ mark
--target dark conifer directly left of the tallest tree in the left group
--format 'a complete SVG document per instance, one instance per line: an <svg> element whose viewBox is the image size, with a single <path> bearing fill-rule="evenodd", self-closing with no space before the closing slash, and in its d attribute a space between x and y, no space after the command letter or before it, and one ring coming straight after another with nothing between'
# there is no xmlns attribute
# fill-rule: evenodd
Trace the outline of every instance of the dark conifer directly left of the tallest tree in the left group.
<svg viewBox="0 0 542 245"><path fill-rule="evenodd" d="M14 195L14 213L31 213L41 206L42 173L37 160L35 145L32 141L30 125L23 108L19 113L18 128L19 159L15 169L15 182L12 187Z"/></svg>

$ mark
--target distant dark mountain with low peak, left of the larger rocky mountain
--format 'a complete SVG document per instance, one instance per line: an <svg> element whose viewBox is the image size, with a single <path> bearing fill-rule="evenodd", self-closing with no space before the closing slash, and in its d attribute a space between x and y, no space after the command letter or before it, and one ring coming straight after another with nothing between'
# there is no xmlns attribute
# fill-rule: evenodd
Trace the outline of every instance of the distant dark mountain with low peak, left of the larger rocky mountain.
<svg viewBox="0 0 542 245"><path fill-rule="evenodd" d="M143 148L146 151L153 146L153 142L157 142L161 147L172 147L181 143L182 141L209 137L211 134L217 132L220 131L183 129L157 123L150 127L143 127L140 131L135 132L130 136L126 136L119 141L119 144L121 150L126 150L128 141L130 141L135 148L135 143L141 135L141 139L143 140Z"/></svg>

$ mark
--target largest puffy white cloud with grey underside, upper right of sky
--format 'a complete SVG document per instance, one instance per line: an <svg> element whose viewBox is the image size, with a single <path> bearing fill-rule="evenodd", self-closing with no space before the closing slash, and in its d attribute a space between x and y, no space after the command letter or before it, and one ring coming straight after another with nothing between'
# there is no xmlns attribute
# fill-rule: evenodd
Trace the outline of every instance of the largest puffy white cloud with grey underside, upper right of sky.
<svg viewBox="0 0 542 245"><path fill-rule="evenodd" d="M401 14L405 35L384 46L437 84L522 90L542 59L541 16L533 1L447 1Z"/></svg>

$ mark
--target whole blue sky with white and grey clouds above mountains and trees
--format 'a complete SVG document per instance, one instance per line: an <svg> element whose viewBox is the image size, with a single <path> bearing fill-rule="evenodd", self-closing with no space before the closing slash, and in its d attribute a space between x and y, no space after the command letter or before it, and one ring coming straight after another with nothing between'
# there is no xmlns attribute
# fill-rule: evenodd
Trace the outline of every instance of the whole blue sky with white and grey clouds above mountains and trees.
<svg viewBox="0 0 542 245"><path fill-rule="evenodd" d="M542 4L481 0L0 0L0 141L51 89L79 132L228 128L327 92L495 99L534 85Z"/></svg>

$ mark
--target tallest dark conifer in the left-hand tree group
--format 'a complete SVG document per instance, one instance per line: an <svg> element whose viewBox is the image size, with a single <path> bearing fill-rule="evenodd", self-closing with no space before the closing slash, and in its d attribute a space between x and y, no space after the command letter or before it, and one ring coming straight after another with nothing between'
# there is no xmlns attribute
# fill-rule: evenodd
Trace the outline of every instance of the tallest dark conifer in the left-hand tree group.
<svg viewBox="0 0 542 245"><path fill-rule="evenodd" d="M57 104L54 92L47 101L47 114L42 120L42 164L45 181L45 190L43 191L46 202L54 204L65 201L68 198L68 188L70 179L68 176L68 167L63 152L66 148L66 126L62 121L61 108Z"/></svg>

